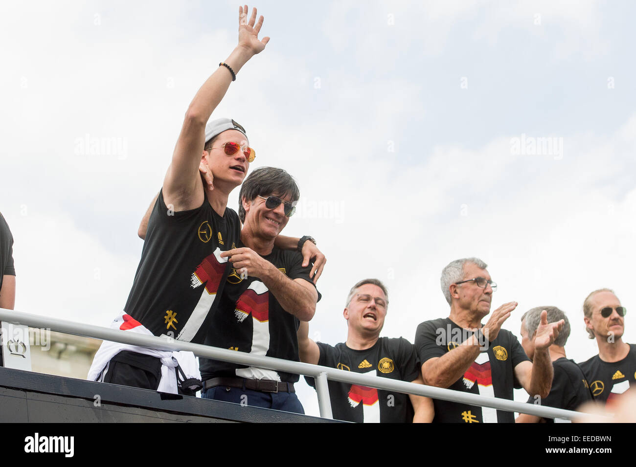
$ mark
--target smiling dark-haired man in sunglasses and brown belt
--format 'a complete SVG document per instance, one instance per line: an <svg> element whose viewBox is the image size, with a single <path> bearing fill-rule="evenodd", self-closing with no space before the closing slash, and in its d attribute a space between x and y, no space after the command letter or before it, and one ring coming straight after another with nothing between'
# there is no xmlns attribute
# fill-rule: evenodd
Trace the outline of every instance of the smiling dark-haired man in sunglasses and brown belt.
<svg viewBox="0 0 636 467"><path fill-rule="evenodd" d="M281 250L274 240L299 196L294 179L280 168L261 167L245 179L239 194L243 229L236 248L221 253L233 269L206 345L298 362L296 330L314 317L320 295L300 253ZM296 374L205 358L199 367L204 398L305 413L294 389Z"/></svg>

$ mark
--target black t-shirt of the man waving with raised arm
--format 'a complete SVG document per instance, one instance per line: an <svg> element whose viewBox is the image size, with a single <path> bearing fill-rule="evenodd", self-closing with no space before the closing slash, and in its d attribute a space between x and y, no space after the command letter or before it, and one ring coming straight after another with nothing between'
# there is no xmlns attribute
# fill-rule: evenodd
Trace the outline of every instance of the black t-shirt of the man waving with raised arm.
<svg viewBox="0 0 636 467"><path fill-rule="evenodd" d="M221 217L204 200L199 208L174 212L160 192L125 312L155 335L202 342L229 272L219 255L239 238L239 216L232 209Z"/></svg>

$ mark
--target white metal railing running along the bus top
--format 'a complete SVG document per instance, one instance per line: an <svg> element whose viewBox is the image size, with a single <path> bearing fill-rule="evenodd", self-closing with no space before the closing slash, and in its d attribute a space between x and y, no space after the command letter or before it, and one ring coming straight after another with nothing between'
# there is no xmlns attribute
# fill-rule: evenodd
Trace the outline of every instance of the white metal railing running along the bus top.
<svg viewBox="0 0 636 467"><path fill-rule="evenodd" d="M581 421L583 421L586 417L589 417L588 414L575 412L574 410L555 409L554 407L515 402L513 400L497 397L462 393L460 391L454 391L453 389L436 388L434 386L397 381L379 376L369 376L347 370L311 365L310 363L291 362L289 360L282 360L281 358L251 355L245 352L237 352L229 349L205 346L202 344L177 341L170 337L156 337L154 335L138 334L136 332L127 332L119 329L74 323L73 321L60 320L59 318L31 315L29 313L22 313L4 308L0 308L0 321L6 321L16 325L27 325L35 328L46 328L48 330L66 334L83 335L85 337L121 342L123 344L157 350L191 351L195 355L203 358L212 358L214 360L222 360L223 362L239 363L240 365L251 365L275 371L312 376L315 379L320 414L321 417L324 418L333 418L331 402L329 401L328 379L332 381L347 382L350 384L359 384L370 388L396 391L403 394L427 396L451 402L492 407L494 409L508 410L508 412L521 412L539 417L569 420L577 419ZM608 421L609 420L610 419L608 418Z"/></svg>

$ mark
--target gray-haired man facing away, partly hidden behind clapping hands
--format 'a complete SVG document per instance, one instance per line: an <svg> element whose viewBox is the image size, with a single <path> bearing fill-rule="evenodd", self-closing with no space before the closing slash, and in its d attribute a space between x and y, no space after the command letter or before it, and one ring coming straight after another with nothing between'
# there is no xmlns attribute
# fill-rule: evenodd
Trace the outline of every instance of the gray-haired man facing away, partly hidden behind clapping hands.
<svg viewBox="0 0 636 467"><path fill-rule="evenodd" d="M563 328L550 346L550 358L554 368L552 388L548 397L539 399L537 396L530 396L529 403L540 403L548 407L558 409L576 410L581 404L591 400L590 389L585 381L583 372L579 365L565 357L565 342L570 335L570 321L567 316L556 306L540 306L532 308L521 317L521 345L525 353L534 359L534 338L537 327L541 322L541 313L546 311L548 323L556 323L563 320ZM520 414L516 423L539 423L546 421L551 423L553 419L543 419L536 415Z"/></svg>

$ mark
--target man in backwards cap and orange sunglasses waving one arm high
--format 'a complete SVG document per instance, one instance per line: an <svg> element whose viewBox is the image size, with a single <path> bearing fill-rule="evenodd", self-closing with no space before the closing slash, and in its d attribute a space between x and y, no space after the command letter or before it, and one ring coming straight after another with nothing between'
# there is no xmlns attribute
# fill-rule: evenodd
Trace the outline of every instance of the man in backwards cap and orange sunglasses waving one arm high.
<svg viewBox="0 0 636 467"><path fill-rule="evenodd" d="M234 248L240 236L237 213L226 209L228 196L242 183L255 156L237 122L206 122L243 65L265 49L269 37L258 39L262 25L262 16L256 22L256 8L249 19L247 7L239 8L239 44L188 107L162 189L142 220L141 260L113 328L186 342L204 340L229 274L221 252ZM214 175L213 189L202 182L200 165ZM298 239L280 241L293 250L298 245ZM192 394L194 386L181 382L198 377L194 363L191 353L104 341L87 379Z"/></svg>

